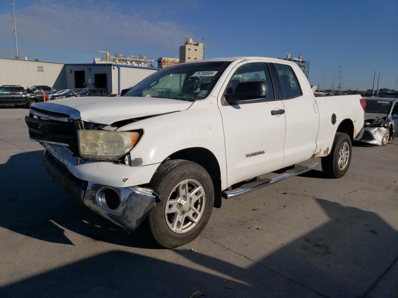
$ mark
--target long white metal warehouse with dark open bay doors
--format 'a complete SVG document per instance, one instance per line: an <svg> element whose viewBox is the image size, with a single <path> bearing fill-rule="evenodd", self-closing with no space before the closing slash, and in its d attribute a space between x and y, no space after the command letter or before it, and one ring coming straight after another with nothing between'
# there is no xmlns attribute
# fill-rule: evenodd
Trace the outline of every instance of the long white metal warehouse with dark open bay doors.
<svg viewBox="0 0 398 298"><path fill-rule="evenodd" d="M47 85L55 89L106 88L120 93L160 68L123 64L63 64L0 58L0 85Z"/></svg>

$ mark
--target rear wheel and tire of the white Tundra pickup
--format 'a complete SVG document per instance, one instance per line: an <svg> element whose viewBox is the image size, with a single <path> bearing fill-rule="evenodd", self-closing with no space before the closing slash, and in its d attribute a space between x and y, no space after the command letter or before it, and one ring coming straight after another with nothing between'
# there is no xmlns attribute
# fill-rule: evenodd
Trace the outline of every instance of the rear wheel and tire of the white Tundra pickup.
<svg viewBox="0 0 398 298"><path fill-rule="evenodd" d="M337 132L332 152L321 158L322 171L329 178L341 178L349 168L352 155L352 143L349 135Z"/></svg>

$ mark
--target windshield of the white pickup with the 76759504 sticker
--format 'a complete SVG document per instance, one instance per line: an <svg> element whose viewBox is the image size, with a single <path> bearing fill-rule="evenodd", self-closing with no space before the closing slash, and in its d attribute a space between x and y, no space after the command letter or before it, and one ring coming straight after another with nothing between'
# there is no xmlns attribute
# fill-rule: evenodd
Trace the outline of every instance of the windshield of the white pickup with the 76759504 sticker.
<svg viewBox="0 0 398 298"><path fill-rule="evenodd" d="M198 62L163 68L149 75L123 96L196 101L209 95L230 61Z"/></svg>

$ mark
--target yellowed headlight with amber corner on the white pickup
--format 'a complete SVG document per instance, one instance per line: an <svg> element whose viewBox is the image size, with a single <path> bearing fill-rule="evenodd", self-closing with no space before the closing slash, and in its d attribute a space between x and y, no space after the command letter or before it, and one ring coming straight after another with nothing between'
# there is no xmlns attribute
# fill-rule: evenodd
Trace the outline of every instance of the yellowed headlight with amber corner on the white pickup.
<svg viewBox="0 0 398 298"><path fill-rule="evenodd" d="M115 160L137 144L139 132L78 130L79 153L86 159Z"/></svg>

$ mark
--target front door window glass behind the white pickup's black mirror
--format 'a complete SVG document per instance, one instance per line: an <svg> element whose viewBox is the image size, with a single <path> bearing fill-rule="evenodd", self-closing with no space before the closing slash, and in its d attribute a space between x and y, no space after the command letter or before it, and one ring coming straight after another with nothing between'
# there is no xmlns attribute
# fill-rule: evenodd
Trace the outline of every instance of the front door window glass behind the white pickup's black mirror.
<svg viewBox="0 0 398 298"><path fill-rule="evenodd" d="M240 66L232 75L226 87L226 94L235 94L236 87L242 82L262 81L267 86L267 97L261 100L275 99L271 75L265 63L250 63ZM239 93L239 92L238 92Z"/></svg>

